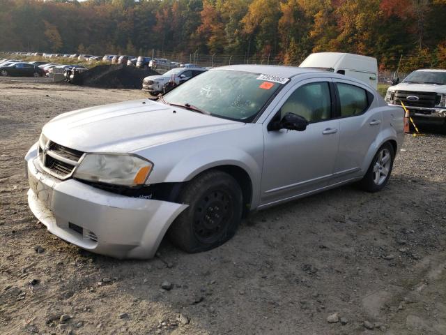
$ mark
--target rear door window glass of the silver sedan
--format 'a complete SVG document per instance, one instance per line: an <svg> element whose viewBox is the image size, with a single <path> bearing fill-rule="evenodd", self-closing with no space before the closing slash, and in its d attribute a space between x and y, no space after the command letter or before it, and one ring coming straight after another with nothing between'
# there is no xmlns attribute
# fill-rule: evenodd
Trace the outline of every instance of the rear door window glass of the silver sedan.
<svg viewBox="0 0 446 335"><path fill-rule="evenodd" d="M338 82L337 91L341 105L341 117L362 114L369 107L367 91L365 89Z"/></svg>

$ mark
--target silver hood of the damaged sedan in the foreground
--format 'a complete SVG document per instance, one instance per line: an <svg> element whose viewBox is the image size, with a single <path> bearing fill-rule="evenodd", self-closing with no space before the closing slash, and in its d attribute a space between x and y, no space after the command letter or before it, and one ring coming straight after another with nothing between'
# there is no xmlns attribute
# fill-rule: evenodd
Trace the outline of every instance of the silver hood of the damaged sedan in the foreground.
<svg viewBox="0 0 446 335"><path fill-rule="evenodd" d="M242 126L144 99L61 114L45 124L43 134L80 151L127 153Z"/></svg>

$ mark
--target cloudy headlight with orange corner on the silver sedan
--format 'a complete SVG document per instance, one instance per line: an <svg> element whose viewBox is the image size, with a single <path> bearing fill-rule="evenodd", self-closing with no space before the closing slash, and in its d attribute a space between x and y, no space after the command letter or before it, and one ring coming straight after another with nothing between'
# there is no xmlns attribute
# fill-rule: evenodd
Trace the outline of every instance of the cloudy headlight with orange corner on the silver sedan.
<svg viewBox="0 0 446 335"><path fill-rule="evenodd" d="M73 177L101 183L137 186L146 182L153 163L121 154L86 154Z"/></svg>

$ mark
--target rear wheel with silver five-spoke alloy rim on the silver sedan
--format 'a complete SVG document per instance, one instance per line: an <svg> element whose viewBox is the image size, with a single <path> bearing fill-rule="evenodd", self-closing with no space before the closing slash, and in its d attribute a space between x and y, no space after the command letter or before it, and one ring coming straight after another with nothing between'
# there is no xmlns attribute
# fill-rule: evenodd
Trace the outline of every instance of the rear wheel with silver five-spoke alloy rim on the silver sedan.
<svg viewBox="0 0 446 335"><path fill-rule="evenodd" d="M360 187L370 193L381 191L392 173L394 158L395 153L392 144L385 142L376 152L369 170L359 183Z"/></svg>

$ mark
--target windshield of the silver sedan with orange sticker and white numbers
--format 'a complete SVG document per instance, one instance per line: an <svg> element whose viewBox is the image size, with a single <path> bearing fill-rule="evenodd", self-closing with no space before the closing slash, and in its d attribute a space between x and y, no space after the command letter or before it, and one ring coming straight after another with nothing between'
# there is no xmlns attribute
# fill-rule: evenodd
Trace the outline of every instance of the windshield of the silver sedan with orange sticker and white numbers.
<svg viewBox="0 0 446 335"><path fill-rule="evenodd" d="M164 101L192 105L215 117L250 122L284 86L277 81L289 80L236 70L209 70L166 94Z"/></svg>

